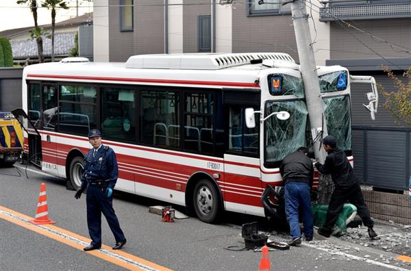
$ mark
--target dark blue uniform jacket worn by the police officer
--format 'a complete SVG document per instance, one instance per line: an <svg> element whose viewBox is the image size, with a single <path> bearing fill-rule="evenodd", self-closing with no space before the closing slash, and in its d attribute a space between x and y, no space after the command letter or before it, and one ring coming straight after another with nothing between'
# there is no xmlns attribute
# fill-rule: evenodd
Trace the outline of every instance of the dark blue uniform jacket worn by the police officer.
<svg viewBox="0 0 411 271"><path fill-rule="evenodd" d="M103 146L93 156L94 148L90 149L84 157L84 174L82 175L82 188L89 183L102 182L107 188L114 188L119 175L116 154L109 146Z"/></svg>

